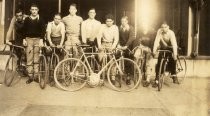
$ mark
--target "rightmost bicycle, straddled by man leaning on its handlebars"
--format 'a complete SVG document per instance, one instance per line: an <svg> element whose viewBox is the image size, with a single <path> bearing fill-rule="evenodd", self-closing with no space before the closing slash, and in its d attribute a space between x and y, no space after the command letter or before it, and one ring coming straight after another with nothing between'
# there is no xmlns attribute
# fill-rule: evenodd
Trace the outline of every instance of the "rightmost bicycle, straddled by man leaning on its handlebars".
<svg viewBox="0 0 210 116"><path fill-rule="evenodd" d="M167 75L167 65L169 62L169 56L167 56L167 53L172 54L172 51L170 50L158 50L159 54L162 53L163 56L160 61L160 68L158 71L158 91L162 89L163 83L164 83L164 78L167 76L171 76L170 72ZM178 83L182 83L186 77L186 71L187 71L187 63L185 60L185 57L183 56L177 56L177 61L176 61L176 76L178 79Z"/></svg>

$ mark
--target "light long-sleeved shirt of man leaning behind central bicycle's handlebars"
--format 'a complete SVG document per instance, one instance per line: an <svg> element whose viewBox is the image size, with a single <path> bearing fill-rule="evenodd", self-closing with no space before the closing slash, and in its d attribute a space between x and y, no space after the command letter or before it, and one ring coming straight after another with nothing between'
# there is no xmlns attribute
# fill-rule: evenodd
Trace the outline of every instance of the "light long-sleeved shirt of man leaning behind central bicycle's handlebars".
<svg viewBox="0 0 210 116"><path fill-rule="evenodd" d="M116 25L108 27L106 24L102 24L99 34L97 36L98 46L101 46L101 42L113 43L113 47L116 47L119 42L119 30Z"/></svg>

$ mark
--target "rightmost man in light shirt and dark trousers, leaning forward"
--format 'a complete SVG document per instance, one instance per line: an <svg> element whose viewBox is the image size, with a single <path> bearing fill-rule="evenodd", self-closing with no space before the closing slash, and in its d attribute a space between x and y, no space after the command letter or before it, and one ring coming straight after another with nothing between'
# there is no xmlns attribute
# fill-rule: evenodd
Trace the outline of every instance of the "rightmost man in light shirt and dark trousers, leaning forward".
<svg viewBox="0 0 210 116"><path fill-rule="evenodd" d="M161 28L157 31L157 35L154 42L153 54L156 54L157 49L160 50L170 50L172 53L167 53L166 56L169 57L168 69L171 72L173 83L178 84L176 77L176 60L177 60L177 42L176 36L166 22L161 25ZM153 87L157 87L158 71L160 68L160 62L163 54L159 54L158 62L156 65L156 78Z"/></svg>

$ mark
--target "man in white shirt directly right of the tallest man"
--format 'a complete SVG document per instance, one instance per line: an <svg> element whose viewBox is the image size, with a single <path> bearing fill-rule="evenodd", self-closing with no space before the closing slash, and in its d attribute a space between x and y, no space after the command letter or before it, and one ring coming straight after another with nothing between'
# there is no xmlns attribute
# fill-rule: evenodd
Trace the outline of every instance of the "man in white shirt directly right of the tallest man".
<svg viewBox="0 0 210 116"><path fill-rule="evenodd" d="M88 12L89 18L82 22L82 42L92 47L96 46L96 37L101 27L101 22L95 20L96 11L91 8Z"/></svg>

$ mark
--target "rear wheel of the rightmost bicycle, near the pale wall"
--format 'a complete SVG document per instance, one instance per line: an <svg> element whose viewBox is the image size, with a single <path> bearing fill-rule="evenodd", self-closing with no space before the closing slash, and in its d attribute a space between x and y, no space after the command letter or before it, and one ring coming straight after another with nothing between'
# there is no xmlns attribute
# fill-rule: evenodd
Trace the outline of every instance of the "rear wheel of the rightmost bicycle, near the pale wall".
<svg viewBox="0 0 210 116"><path fill-rule="evenodd" d="M184 56L179 56L176 62L176 74L179 83L183 83L186 77L187 63Z"/></svg>

